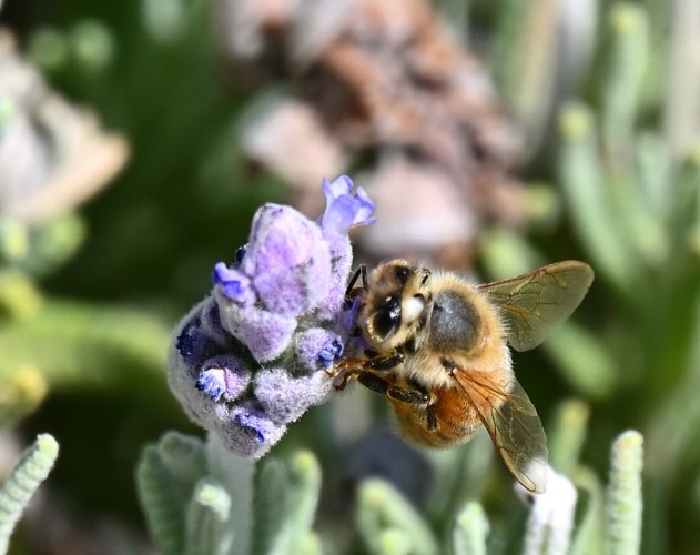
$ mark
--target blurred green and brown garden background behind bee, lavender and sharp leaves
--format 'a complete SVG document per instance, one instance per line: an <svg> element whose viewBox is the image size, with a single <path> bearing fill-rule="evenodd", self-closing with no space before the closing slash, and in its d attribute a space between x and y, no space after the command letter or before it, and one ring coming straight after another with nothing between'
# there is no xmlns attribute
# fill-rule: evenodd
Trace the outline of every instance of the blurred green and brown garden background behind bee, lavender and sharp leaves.
<svg viewBox="0 0 700 555"><path fill-rule="evenodd" d="M260 204L315 216L339 173L377 204L357 263L594 266L518 379L580 487L640 431L642 553L696 553L700 3L4 0L0 27L0 474L38 432L61 444L12 553L153 549L140 450L201 434L165 383L170 330ZM272 455L318 456L322 537L359 549L371 475L436 529L467 497L496 534L521 518L487 437L415 451L353 390Z"/></svg>

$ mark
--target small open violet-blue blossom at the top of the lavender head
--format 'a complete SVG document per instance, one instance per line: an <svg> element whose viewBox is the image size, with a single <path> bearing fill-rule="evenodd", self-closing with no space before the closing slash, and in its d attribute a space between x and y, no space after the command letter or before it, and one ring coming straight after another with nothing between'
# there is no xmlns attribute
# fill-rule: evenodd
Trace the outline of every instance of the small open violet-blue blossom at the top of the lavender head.
<svg viewBox="0 0 700 555"><path fill-rule="evenodd" d="M347 234L351 228L368 225L375 222L374 202L362 186L351 194L353 181L341 175L335 181L323 180L326 195L326 211L321 216L321 226L326 233Z"/></svg>

